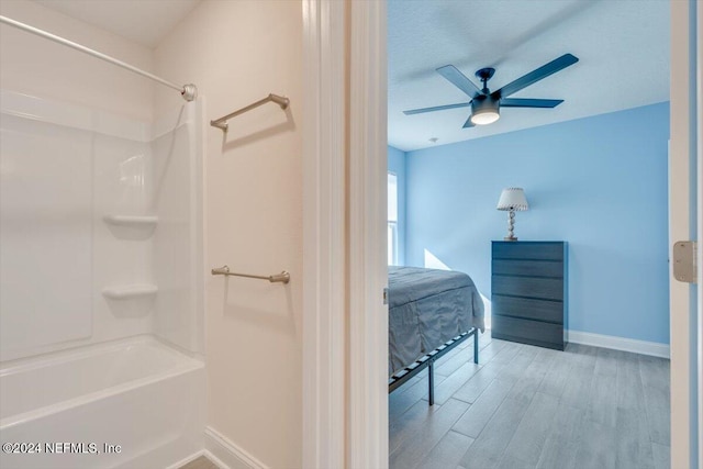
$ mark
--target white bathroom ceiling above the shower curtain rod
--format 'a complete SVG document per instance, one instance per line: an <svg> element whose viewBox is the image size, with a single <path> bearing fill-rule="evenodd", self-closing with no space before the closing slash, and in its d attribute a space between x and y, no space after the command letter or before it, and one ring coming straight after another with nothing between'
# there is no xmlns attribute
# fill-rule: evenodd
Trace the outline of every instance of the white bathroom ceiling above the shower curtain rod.
<svg viewBox="0 0 703 469"><path fill-rule="evenodd" d="M153 48L200 0L34 0Z"/></svg>

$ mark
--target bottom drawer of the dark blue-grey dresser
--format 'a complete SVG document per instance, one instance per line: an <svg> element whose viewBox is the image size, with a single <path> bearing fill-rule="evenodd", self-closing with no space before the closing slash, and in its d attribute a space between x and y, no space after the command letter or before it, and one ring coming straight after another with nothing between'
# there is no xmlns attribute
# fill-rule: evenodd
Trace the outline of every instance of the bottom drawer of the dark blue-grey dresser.
<svg viewBox="0 0 703 469"><path fill-rule="evenodd" d="M493 314L491 323L491 336L494 338L563 350L563 327L560 324L505 317L500 314Z"/></svg>

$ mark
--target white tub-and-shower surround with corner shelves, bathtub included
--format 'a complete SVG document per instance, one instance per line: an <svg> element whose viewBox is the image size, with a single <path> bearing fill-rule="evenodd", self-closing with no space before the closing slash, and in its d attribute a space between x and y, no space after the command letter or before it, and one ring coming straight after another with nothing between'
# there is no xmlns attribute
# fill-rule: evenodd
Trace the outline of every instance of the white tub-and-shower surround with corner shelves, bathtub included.
<svg viewBox="0 0 703 469"><path fill-rule="evenodd" d="M0 98L0 439L121 446L0 466L177 464L203 446L202 104Z"/></svg>

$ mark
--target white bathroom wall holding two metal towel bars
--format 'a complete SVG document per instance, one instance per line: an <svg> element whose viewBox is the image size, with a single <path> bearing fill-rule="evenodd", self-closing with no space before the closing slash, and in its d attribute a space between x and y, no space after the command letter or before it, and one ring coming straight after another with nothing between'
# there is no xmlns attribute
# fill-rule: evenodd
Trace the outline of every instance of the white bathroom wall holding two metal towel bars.
<svg viewBox="0 0 703 469"><path fill-rule="evenodd" d="M205 281L208 425L263 464L301 465L302 11L299 1L202 2L156 48L157 72L196 83L205 121L270 92L276 104L205 130L205 264L288 286ZM157 90L157 111L178 97Z"/></svg>

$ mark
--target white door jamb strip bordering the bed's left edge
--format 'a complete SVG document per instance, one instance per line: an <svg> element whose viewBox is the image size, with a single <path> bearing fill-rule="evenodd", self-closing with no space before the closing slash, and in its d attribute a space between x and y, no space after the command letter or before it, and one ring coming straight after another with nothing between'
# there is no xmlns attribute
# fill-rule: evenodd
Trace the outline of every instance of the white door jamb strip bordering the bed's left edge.
<svg viewBox="0 0 703 469"><path fill-rule="evenodd" d="M348 468L388 467L386 2L352 1Z"/></svg>

